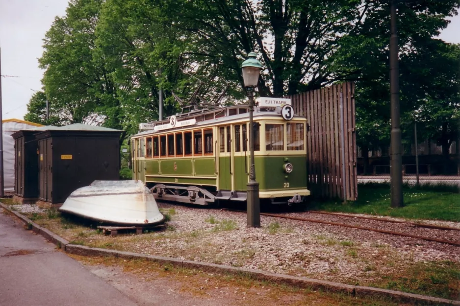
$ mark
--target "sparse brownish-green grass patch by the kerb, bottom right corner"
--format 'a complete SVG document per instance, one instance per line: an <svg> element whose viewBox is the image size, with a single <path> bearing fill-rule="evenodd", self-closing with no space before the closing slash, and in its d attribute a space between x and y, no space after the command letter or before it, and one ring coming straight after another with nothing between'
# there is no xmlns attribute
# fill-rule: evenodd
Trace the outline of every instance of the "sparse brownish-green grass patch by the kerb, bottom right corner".
<svg viewBox="0 0 460 306"><path fill-rule="evenodd" d="M383 277L371 285L456 300L460 296L460 263L418 262L399 275Z"/></svg>

